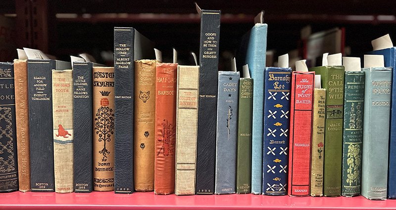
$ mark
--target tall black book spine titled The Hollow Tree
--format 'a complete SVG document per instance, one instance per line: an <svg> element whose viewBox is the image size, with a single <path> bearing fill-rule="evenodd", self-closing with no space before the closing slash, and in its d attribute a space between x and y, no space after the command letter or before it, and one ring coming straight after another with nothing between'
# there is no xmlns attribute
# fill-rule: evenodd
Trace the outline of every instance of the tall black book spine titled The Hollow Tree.
<svg viewBox="0 0 396 210"><path fill-rule="evenodd" d="M134 42L134 28L114 28L115 193L134 190Z"/></svg>

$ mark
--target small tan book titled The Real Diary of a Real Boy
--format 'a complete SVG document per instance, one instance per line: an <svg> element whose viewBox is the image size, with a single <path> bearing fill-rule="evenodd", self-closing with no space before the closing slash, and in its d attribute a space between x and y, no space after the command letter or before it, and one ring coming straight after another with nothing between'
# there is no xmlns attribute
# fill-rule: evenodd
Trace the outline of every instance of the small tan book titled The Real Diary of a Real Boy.
<svg viewBox="0 0 396 210"><path fill-rule="evenodd" d="M323 196L326 89L315 88L313 92L310 194L316 197Z"/></svg>

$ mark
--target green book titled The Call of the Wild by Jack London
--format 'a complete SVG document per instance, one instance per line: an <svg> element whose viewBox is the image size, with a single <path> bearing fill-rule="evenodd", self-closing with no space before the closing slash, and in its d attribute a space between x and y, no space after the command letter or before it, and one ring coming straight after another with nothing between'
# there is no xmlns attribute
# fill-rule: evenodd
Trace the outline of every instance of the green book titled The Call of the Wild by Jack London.
<svg viewBox="0 0 396 210"><path fill-rule="evenodd" d="M336 197L341 195L345 69L320 66L309 71L321 75L322 87L326 89L323 195Z"/></svg>

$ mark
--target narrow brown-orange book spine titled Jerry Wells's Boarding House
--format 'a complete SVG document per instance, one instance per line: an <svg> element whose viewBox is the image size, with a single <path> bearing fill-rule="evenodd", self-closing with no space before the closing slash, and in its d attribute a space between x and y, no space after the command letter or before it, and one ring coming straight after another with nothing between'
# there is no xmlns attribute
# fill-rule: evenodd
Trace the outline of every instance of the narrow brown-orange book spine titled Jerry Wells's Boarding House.
<svg viewBox="0 0 396 210"><path fill-rule="evenodd" d="M30 191L29 97L27 60L14 60L15 119L19 191Z"/></svg>

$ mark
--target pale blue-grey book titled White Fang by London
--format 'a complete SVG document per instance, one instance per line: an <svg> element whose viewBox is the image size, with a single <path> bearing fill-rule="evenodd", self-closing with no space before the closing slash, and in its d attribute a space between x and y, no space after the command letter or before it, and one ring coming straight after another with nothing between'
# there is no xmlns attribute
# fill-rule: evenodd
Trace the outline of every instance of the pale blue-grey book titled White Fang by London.
<svg viewBox="0 0 396 210"><path fill-rule="evenodd" d="M370 200L387 198L389 121L392 69L365 73L361 194Z"/></svg>

